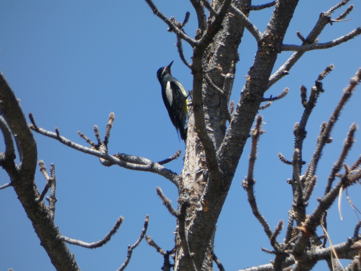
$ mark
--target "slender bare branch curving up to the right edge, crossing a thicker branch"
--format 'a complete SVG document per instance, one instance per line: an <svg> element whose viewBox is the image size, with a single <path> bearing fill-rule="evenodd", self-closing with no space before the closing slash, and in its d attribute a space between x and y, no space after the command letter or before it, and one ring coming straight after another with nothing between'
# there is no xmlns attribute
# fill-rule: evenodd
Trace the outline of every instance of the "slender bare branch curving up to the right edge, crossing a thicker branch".
<svg viewBox="0 0 361 271"><path fill-rule="evenodd" d="M348 34L338 38L331 40L330 42L325 43L313 43L313 44L302 44L302 45L290 45L290 44L283 44L281 46L281 51L296 51L296 52L307 52L312 50L319 50L319 49L328 49L339 45L341 43L347 42L350 39L355 38L356 36L361 34L361 27L352 30Z"/></svg>

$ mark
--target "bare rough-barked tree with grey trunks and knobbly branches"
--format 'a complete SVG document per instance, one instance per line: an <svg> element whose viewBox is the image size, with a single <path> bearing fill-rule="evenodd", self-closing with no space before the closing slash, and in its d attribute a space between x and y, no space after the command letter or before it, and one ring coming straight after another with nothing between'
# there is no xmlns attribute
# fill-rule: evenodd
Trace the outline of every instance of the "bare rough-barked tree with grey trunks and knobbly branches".
<svg viewBox="0 0 361 271"><path fill-rule="evenodd" d="M260 221L269 238L272 250L264 250L274 254L272 256L273 268L280 270L293 265L295 270L310 270L321 259L326 260L331 266L331 247L325 247L327 238L323 233L320 234L316 230L321 225L325 229L327 228L327 210L335 202L340 189L346 189L360 179L361 173L357 168L360 159L354 159L356 160L355 163L343 165L345 156L352 145L356 130L355 125L352 125L349 130L347 141L339 159L337 157L334 159L337 162L332 168L325 194L320 196L319 203L313 210L306 209L306 206L317 181L315 173L319 164L319 157L326 143L331 142L330 132L339 116L339 111L360 81L360 70L345 89L333 117L330 121L322 124L316 150L312 158L306 161L306 165L303 162L305 127L318 96L324 91L323 79L333 66L330 65L324 72L321 70L322 73L316 80L310 94L307 94L306 87L301 87L301 102L304 113L301 121L295 125L293 156L292 159L288 158L287 160L286 156L280 155L283 162L292 166L292 176L288 180L292 188L290 189L292 202L289 204L291 210L283 241L278 240L283 228L283 221L280 220L273 230L262 216L255 200L254 175L255 170L257 170L255 168L257 142L264 132L262 117L256 116L262 102L273 102L287 94L287 90L284 90L278 96L265 98L265 92L275 82L290 73L293 65L306 51L330 48L360 34L361 29L359 27L331 42L319 43L317 40L326 26L344 19L351 12L352 7L343 13L340 12L339 16L335 16L331 20L331 14L335 11L339 12L339 9L348 1L342 1L328 11L321 13L315 27L307 36L298 32L297 36L301 40L299 46L287 45L283 41L296 9L297 1L277 1L261 6L251 5L250 1L212 1L211 3L191 1L198 20L195 38L188 36L184 31L189 13L186 13L183 22L178 22L173 17L170 19L165 17L152 1L147 0L146 2L153 12L168 24L169 30L174 32L177 37L179 55L184 64L191 69L193 76L188 139L181 174L178 175L164 166L164 164L177 158L180 155L179 152L158 163L139 156L119 153L110 155L108 143L110 129L114 121L113 114L109 117L103 141L100 140L97 129L95 129L97 143L92 143L86 135L81 134L90 143L90 147L77 145L65 139L58 129L56 132L49 132L40 128L40 124L39 126L36 124L32 115L30 115L31 124L28 125L19 107L19 102L9 85L4 78L1 81L0 96L3 114L1 130L6 146L1 157L1 165L9 174L11 181L9 185L5 186L12 186L16 191L53 265L58 270L78 269L73 254L70 253L64 242L69 242L69 239L60 234L54 223L56 175L53 165L49 177L44 164L39 163L47 183L43 193L38 192L40 189L35 185L37 147L33 132L57 139L78 151L95 155L100 158L103 165L119 165L128 169L154 172L177 186L177 210L172 207L166 194L157 188L157 193L162 198L163 203L170 213L177 218L174 249L170 249L169 252L158 249L164 256L164 270L170 268L168 262L170 254L174 255L174 268L176 270L210 270L213 261L216 261L218 267L221 268L213 249L216 224L234 179L239 159L242 154L244 155L244 146L251 136L252 147L248 173L242 185L247 192L253 215ZM264 8L270 8L273 12L266 30L262 33L248 20L248 16L250 13L258 12ZM209 18L207 19L208 13ZM242 56L242 52L239 54L238 48L242 42L245 29L256 40L257 53L252 67L249 69L240 97L237 98L237 100L239 99L237 104L231 103L231 109L229 109L231 93L234 90L236 67L241 64L237 64L239 57ZM184 56L182 42L186 42L192 47L191 63L188 63ZM278 69L275 63L279 53L283 51L295 52ZM267 106L270 104L268 103L261 108L264 109ZM275 106L277 103L271 107ZM255 118L255 128L251 129ZM15 164L13 140L19 153L21 162L19 166ZM342 167L344 167L344 172L341 171ZM335 180L336 178L337 180ZM51 188L49 206L45 206L43 197L49 188ZM121 221L122 218L117 220L108 237L118 229ZM145 219L144 231L140 237L144 236L147 223L148 218ZM357 244L360 240L359 227L360 223L356 225L355 233L351 239L334 246L339 258L352 260L349 268L358 264L358 258L355 257L357 256ZM352 235L352 233L350 234ZM104 241L108 239L105 238ZM152 246L157 247L150 237L147 238L147 241ZM154 241L156 242L156 240ZM74 243L75 241L70 240L70 242ZM267 268L272 268L272 265L260 266L253 270L267 270Z"/></svg>

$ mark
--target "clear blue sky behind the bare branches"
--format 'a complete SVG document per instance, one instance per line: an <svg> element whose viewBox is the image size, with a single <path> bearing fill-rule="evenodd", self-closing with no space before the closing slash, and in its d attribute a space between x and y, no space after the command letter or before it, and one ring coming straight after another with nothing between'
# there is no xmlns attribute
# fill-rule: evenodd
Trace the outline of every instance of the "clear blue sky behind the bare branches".
<svg viewBox="0 0 361 271"><path fill-rule="evenodd" d="M155 0L168 17L183 21L191 12L186 31L193 36L196 16L188 1ZM263 4L253 1L253 4ZM321 12L337 1L300 1L290 30L284 42L299 44L296 31L306 36ZM320 42L338 38L361 25L361 5L351 1L355 9L351 21L327 26L319 36ZM342 11L344 8L342 9ZM249 19L264 31L271 9L251 12ZM340 12L337 11L335 16ZM123 152L159 161L184 150L178 141L164 107L156 71L174 60L172 74L185 89L192 86L190 70L179 59L176 39L167 26L155 17L144 1L10 1L3 0L0 8L0 70L20 99L25 115L32 112L37 124L48 130L58 127L62 136L86 144L77 131L95 140L93 125L104 134L110 112L116 120L110 136L109 152ZM361 66L361 37L325 51L306 53L292 68L290 74L276 83L266 96L277 95L285 87L290 93L270 108L261 111L264 116L255 178L256 197L260 210L274 228L280 219L287 221L291 206L292 176L290 166L279 162L282 152L291 159L293 152L293 125L300 121L303 107L300 86L308 90L318 74L329 64L334 71L323 81L321 94L309 120L305 140L304 160L312 156L319 125L327 121L358 67ZM191 49L184 45L188 60ZM236 68L232 100L237 101L252 66L256 52L254 38L245 32L239 48L240 61ZM275 70L291 55L279 55ZM361 89L347 104L337 123L332 138L323 152L317 176L318 183L309 202L309 212L316 206L316 197L323 194L327 176L336 161L351 123L361 124ZM175 219L158 198L155 188L160 186L177 207L177 189L161 176L133 172L116 166L107 168L95 157L69 149L54 139L35 134L38 159L44 160L49 170L55 163L58 199L55 223L68 237L86 242L105 236L119 216L124 222L102 248L88 250L69 245L82 270L116 270L126 257L127 245L133 244L149 214L147 235L164 250L174 246ZM352 164L360 155L360 132L347 162ZM226 270L269 263L273 259L261 251L271 248L260 224L252 216L247 196L241 186L247 174L249 145L244 150L225 206L218 221L215 253ZM3 141L0 150L4 150ZM166 165L181 172L182 159ZM0 171L0 185L9 181ZM37 171L36 184L42 190L45 180ZM361 187L349 189L354 204L361 208ZM12 267L20 270L54 270L45 250L27 219L25 211L12 188L0 191L0 270ZM353 233L358 221L355 212L343 198L344 220L339 219L335 207L329 212L329 235L334 244L343 242ZM360 215L359 215L360 217ZM280 235L280 241L283 233ZM162 257L142 241L134 251L127 270L160 270ZM322 264L319 265L321 268ZM216 268L214 268L216 270Z"/></svg>

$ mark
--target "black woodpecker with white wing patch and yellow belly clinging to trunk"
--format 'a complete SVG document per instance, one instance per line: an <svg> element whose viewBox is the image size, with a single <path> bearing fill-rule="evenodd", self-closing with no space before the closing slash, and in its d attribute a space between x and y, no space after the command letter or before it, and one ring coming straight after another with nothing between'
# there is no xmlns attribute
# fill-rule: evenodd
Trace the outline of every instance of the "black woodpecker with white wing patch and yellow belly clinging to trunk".
<svg viewBox="0 0 361 271"><path fill-rule="evenodd" d="M188 115L188 96L184 87L177 79L170 74L170 66L173 61L157 71L157 78L162 87L162 98L165 107L168 110L170 120L172 121L177 134L186 142L187 131L184 130Z"/></svg>

